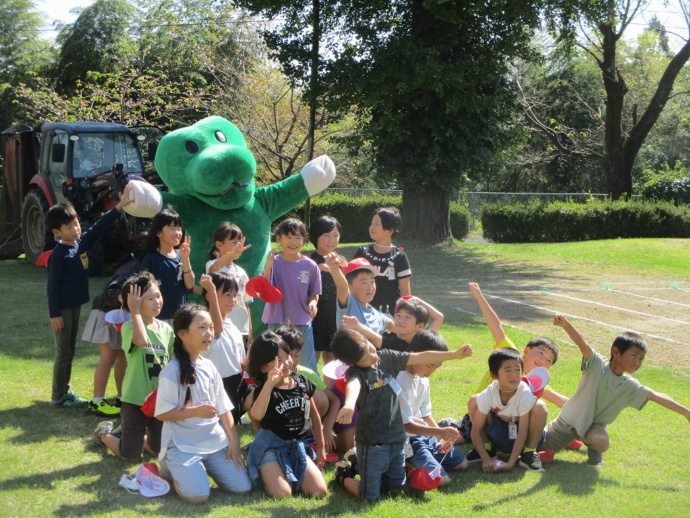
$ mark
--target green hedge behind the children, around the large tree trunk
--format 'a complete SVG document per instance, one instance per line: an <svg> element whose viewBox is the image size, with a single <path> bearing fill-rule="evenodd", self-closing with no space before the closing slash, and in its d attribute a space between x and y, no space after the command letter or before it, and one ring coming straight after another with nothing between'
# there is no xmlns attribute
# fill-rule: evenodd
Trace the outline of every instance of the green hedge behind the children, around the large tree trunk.
<svg viewBox="0 0 690 518"><path fill-rule="evenodd" d="M355 198L341 193L328 193L311 199L311 221L325 214L335 217L343 226L343 243L360 243L370 241L369 220L377 207L397 207L402 212L401 196L370 195ZM469 233L469 212L458 203L451 203L450 223L453 237L463 239ZM285 217L304 217L304 205L300 205ZM284 218L280 218L281 221ZM277 222L278 222L277 221ZM276 223L277 223L276 222ZM401 235L405 235L405 219Z"/></svg>

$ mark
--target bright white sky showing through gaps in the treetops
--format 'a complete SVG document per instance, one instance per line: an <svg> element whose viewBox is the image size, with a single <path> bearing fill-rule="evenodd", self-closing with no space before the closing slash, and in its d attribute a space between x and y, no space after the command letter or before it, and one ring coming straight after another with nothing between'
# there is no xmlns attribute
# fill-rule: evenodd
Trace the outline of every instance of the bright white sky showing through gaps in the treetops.
<svg viewBox="0 0 690 518"><path fill-rule="evenodd" d="M50 31L50 25L53 21L61 21L70 23L76 19L76 15L70 13L75 7L87 7L94 3L95 0L37 0L36 5L38 10L46 14L46 31L45 35L48 39L55 38L55 32ZM687 26L683 20L682 13L678 7L677 0L670 0L670 5L664 7L664 0L651 0L645 12L639 16L626 31L626 37L632 39L637 36L646 27L647 22L656 14L661 21L666 25L669 32L679 33L681 36L687 37ZM671 37L671 41L673 38Z"/></svg>

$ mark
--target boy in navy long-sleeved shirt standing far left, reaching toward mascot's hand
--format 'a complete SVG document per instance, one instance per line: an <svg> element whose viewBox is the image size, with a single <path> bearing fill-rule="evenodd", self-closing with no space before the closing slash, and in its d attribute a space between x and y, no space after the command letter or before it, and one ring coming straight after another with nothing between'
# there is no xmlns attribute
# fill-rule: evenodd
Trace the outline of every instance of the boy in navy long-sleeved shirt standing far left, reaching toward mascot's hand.
<svg viewBox="0 0 690 518"><path fill-rule="evenodd" d="M70 203L52 206L46 225L60 242L48 259L48 310L55 340L55 363L50 406L69 407L86 404L70 387L72 360L77 344L81 306L89 301L88 250L131 203L129 185L115 208L106 212L89 230L82 233L79 217Z"/></svg>

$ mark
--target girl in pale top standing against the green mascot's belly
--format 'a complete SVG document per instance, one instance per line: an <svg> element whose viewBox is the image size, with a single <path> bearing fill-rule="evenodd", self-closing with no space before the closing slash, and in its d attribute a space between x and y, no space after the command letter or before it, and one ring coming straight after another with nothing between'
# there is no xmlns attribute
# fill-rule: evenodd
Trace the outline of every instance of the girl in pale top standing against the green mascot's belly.
<svg viewBox="0 0 690 518"><path fill-rule="evenodd" d="M230 313L230 320L242 333L245 348L254 339L252 336L252 319L249 306L254 300L247 295L245 286L249 282L249 276L237 259L242 252L252 245L244 245L245 237L237 225L224 221L213 232L213 245L208 253L206 273L225 272L237 282L237 304Z"/></svg>

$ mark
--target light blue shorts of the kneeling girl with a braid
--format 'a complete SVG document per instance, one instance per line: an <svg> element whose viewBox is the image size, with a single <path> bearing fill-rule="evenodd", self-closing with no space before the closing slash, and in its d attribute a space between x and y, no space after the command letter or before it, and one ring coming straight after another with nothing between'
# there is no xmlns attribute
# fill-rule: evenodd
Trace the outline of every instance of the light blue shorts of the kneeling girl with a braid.
<svg viewBox="0 0 690 518"><path fill-rule="evenodd" d="M237 468L232 459L226 461L226 448L213 453L186 453L170 445L165 452L165 469L186 497L208 496L208 476L224 491L246 493L252 488L244 467Z"/></svg>

